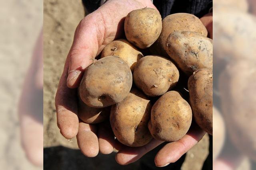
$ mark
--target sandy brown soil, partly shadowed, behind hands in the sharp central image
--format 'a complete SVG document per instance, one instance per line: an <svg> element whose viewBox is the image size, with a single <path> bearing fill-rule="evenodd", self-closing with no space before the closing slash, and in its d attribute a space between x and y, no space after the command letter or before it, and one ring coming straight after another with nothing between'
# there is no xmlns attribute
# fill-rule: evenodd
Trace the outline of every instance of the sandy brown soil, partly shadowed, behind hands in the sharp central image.
<svg viewBox="0 0 256 170"><path fill-rule="evenodd" d="M113 169L118 165L111 155L86 158L77 150L76 139L68 141L56 125L54 97L64 61L73 41L74 31L84 17L82 0L44 0L44 168ZM183 170L200 170L208 155L206 135L188 154ZM101 163L100 163L101 162ZM135 169L138 162L122 169Z"/></svg>

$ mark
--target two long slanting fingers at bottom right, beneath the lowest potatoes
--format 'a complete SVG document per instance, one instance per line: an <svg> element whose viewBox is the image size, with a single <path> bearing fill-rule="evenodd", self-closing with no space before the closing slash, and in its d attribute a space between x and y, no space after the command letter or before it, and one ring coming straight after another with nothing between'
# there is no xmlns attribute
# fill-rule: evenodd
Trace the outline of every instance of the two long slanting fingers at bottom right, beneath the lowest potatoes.
<svg viewBox="0 0 256 170"><path fill-rule="evenodd" d="M176 162L183 154L188 152L194 145L198 143L204 136L205 132L192 123L188 133L176 142L166 144L155 156L155 164L158 167L167 166ZM127 147L122 144L117 148L116 161L121 165L130 164L140 159L144 154L156 148L163 141L153 139L150 143L143 147Z"/></svg>

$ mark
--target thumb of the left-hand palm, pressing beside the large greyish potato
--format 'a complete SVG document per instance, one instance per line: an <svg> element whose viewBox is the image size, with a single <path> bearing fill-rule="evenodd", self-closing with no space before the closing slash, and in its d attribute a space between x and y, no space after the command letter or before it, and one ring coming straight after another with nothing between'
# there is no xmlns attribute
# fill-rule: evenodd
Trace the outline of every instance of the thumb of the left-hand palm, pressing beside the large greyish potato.
<svg viewBox="0 0 256 170"><path fill-rule="evenodd" d="M76 28L74 41L68 53L69 69L67 86L77 88L83 76L84 69L92 64L100 43L104 39L104 24L97 22L97 15L86 16ZM93 18L96 18L93 19ZM103 26L100 26L103 25ZM101 37L101 38L98 38Z"/></svg>

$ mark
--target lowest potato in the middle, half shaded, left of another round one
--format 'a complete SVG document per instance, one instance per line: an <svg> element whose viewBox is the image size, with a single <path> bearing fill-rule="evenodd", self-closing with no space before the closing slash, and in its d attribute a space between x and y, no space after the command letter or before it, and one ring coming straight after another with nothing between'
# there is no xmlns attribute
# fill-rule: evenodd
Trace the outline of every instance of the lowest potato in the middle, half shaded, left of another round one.
<svg viewBox="0 0 256 170"><path fill-rule="evenodd" d="M144 146L151 141L148 131L151 107L150 100L135 89L112 106L110 124L118 141L130 147Z"/></svg>

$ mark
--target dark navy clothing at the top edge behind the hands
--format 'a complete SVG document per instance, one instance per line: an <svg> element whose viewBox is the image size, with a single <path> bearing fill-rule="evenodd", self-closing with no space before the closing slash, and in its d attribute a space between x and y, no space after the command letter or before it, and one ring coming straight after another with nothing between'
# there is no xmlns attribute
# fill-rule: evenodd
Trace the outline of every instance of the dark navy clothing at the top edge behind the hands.
<svg viewBox="0 0 256 170"><path fill-rule="evenodd" d="M82 0L88 13L100 7L100 0ZM174 13L184 12L201 18L212 8L212 0L154 0L162 18Z"/></svg>

